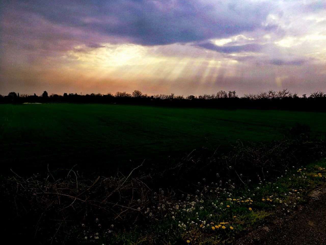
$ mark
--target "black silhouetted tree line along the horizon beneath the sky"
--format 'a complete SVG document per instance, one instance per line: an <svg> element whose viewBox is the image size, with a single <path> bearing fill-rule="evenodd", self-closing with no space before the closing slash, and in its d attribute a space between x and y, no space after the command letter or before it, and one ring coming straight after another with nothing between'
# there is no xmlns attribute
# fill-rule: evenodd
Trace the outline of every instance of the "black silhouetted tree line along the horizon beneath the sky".
<svg viewBox="0 0 326 245"><path fill-rule="evenodd" d="M189 107L216 107L216 108L256 108L256 109L283 109L283 110L318 110L326 111L326 93L323 91L312 92L309 96L292 93L287 89L269 90L257 94L244 94L239 97L236 91L220 90L213 94L175 95L171 94L143 94L140 90L132 93L116 92L115 94L91 93L77 94L64 93L63 95L51 94L44 91L37 96L10 92L6 96L0 95L1 104L22 103L111 103L111 104L143 104L157 106L189 106Z"/></svg>

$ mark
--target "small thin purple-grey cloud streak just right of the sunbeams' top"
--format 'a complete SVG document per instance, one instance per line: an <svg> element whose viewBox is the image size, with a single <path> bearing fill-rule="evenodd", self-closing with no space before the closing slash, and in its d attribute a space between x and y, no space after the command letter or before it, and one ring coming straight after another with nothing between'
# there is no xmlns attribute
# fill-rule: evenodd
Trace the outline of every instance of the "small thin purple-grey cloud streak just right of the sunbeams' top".
<svg viewBox="0 0 326 245"><path fill-rule="evenodd" d="M240 52L259 52L265 45L252 43L239 46L217 46L213 43L199 44L199 47L214 50L220 53L240 53Z"/></svg>

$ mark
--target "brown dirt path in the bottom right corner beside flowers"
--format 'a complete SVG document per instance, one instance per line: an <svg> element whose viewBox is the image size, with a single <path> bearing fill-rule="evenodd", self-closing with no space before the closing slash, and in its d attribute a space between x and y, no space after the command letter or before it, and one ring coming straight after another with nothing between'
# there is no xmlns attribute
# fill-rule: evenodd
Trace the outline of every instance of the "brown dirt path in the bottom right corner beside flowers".
<svg viewBox="0 0 326 245"><path fill-rule="evenodd" d="M326 245L326 188L314 190L310 197L293 215L272 220L233 245Z"/></svg>

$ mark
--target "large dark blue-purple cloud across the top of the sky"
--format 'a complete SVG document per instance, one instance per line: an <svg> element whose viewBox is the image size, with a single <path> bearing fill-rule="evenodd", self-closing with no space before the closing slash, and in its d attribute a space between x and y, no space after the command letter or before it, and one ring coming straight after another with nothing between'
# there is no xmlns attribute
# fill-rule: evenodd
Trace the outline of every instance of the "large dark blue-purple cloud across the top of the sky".
<svg viewBox="0 0 326 245"><path fill-rule="evenodd" d="M272 4L245 1L18 1L26 15L143 45L228 37L261 26Z"/></svg>

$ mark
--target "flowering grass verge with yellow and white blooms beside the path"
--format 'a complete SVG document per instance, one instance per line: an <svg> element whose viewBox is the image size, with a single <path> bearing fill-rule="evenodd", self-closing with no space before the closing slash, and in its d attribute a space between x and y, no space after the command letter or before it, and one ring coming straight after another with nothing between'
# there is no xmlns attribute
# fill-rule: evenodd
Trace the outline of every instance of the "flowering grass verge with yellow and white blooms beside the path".
<svg viewBox="0 0 326 245"><path fill-rule="evenodd" d="M228 244L267 216L291 215L299 204L308 200L311 190L325 185L325 168L323 159L299 169L293 167L275 179L261 179L257 185L241 189L234 188L230 181L223 188L222 183L207 183L198 188L197 195L186 197L187 201L167 209L161 206L166 211L165 219L153 220L149 227L137 226L124 234L112 228L99 237L85 233L84 242Z"/></svg>

